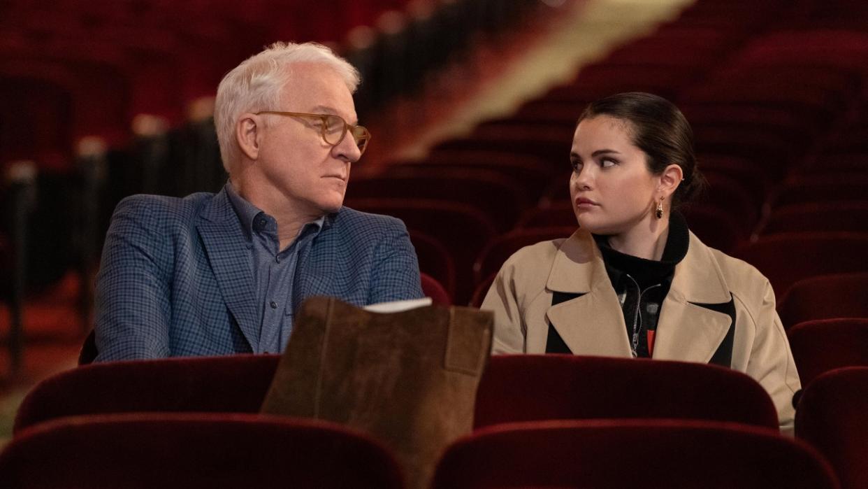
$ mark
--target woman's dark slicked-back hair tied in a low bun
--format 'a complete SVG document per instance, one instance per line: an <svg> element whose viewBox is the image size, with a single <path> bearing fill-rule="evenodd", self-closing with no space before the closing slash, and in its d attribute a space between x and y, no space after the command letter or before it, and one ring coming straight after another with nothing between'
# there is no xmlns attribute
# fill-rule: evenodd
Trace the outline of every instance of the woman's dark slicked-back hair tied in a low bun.
<svg viewBox="0 0 868 489"><path fill-rule="evenodd" d="M694 130L672 102L645 92L621 93L591 102L578 122L595 116L630 122L633 143L648 155L648 169L654 175L672 163L681 167L684 181L675 190L673 207L690 201L705 187L705 177L696 168Z"/></svg>

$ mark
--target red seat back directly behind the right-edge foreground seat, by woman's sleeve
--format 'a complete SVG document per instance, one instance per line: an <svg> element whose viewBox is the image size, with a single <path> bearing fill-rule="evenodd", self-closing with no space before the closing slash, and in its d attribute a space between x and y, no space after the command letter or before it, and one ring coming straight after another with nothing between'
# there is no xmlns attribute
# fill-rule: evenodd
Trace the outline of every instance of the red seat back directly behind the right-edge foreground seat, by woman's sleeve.
<svg viewBox="0 0 868 489"><path fill-rule="evenodd" d="M868 367L868 318L809 320L786 336L803 387L835 368Z"/></svg>

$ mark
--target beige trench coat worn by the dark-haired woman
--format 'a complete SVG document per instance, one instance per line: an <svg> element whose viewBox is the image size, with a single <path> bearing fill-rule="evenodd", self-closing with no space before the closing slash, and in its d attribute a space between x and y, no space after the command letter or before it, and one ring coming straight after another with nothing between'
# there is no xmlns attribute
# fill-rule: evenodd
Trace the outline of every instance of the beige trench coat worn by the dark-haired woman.
<svg viewBox="0 0 868 489"><path fill-rule="evenodd" d="M583 295L552 306L553 292ZM781 430L792 433L792 395L800 388L799 374L772 287L756 268L708 248L693 233L661 307L653 358L707 363L732 320L694 303L731 300L736 314L731 367L766 389ZM582 229L510 256L481 308L495 314L495 354L545 353L550 321L574 354L631 356L627 326L600 249Z"/></svg>

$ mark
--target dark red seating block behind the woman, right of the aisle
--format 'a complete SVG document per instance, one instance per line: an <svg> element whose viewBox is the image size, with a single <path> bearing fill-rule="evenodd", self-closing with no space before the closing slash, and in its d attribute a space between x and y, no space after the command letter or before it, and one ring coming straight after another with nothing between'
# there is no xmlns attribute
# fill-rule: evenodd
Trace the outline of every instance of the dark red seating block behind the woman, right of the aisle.
<svg viewBox="0 0 868 489"><path fill-rule="evenodd" d="M868 12L820 5L696 3L424 159L358 169L346 204L402 218L422 271L478 305L511 253L575 230L568 155L585 105L650 91L694 128L709 186L683 212L700 239L759 268L779 298L801 279L868 271L868 36L856 21Z"/></svg>

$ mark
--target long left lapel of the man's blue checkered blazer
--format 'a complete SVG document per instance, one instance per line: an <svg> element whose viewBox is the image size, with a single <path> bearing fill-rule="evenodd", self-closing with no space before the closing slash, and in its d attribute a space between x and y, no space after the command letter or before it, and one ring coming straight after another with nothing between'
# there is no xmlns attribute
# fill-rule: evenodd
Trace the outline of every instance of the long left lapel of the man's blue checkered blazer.
<svg viewBox="0 0 868 489"><path fill-rule="evenodd" d="M241 333L255 352L259 345L260 325L256 319L250 250L234 212L224 188L214 195L214 199L203 210L196 228L220 286L223 301L226 301Z"/></svg>

